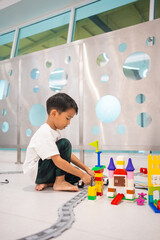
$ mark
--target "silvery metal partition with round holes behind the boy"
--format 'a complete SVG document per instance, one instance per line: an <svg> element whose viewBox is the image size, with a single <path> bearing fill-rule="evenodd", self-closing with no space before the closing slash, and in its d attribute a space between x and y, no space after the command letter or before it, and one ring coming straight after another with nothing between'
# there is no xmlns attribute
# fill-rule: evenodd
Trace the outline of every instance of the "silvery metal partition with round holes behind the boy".
<svg viewBox="0 0 160 240"><path fill-rule="evenodd" d="M160 20L0 62L0 146L24 148L65 92L79 114L63 133L74 149L160 149Z"/></svg>

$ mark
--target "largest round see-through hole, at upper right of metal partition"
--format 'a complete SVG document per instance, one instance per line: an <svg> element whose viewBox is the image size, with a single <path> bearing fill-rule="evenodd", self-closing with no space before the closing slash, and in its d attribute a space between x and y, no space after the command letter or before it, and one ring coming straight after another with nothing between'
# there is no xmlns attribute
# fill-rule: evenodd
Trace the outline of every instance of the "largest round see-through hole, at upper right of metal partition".
<svg viewBox="0 0 160 240"><path fill-rule="evenodd" d="M124 75L132 80L141 80L147 77L150 69L151 59L144 52L132 53L123 64Z"/></svg>

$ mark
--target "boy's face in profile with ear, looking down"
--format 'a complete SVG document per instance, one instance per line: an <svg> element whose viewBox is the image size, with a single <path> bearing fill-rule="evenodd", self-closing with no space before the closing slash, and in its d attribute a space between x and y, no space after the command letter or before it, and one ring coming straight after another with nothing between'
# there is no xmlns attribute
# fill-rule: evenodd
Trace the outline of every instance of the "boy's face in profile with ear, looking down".
<svg viewBox="0 0 160 240"><path fill-rule="evenodd" d="M51 111L51 116L53 120L53 129L62 130L66 128L69 124L71 119L76 114L73 108L68 109L66 112L59 113L57 110Z"/></svg>

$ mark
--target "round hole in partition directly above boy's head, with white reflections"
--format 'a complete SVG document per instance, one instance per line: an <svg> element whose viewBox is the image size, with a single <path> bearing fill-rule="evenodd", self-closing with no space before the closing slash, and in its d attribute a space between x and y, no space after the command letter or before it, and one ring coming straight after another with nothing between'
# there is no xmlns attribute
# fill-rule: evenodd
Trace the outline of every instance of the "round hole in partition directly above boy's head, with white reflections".
<svg viewBox="0 0 160 240"><path fill-rule="evenodd" d="M62 68L56 68L49 77L49 87L52 91L60 92L68 81L68 74Z"/></svg>

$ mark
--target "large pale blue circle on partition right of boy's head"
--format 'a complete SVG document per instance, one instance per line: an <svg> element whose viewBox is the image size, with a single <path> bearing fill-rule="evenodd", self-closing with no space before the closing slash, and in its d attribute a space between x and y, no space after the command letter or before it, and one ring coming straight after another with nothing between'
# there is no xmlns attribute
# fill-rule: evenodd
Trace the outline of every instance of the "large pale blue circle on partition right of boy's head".
<svg viewBox="0 0 160 240"><path fill-rule="evenodd" d="M106 95L97 102L95 111L101 122L111 123L119 117L121 104L115 96Z"/></svg>

